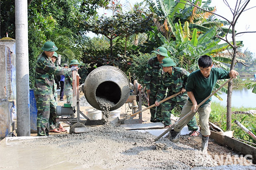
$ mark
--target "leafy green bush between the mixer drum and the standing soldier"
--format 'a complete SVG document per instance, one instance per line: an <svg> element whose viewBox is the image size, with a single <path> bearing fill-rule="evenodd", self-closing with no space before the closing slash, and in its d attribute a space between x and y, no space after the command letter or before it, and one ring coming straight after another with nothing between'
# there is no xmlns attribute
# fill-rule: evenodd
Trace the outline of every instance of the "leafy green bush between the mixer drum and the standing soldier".
<svg viewBox="0 0 256 170"><path fill-rule="evenodd" d="M147 69L147 61L149 60L149 58L155 56L156 55L154 53L139 53L138 55L131 55L133 62L130 65L130 68L128 69L127 73L130 72L134 80L137 80L137 82L140 84L144 84L143 80Z"/></svg>

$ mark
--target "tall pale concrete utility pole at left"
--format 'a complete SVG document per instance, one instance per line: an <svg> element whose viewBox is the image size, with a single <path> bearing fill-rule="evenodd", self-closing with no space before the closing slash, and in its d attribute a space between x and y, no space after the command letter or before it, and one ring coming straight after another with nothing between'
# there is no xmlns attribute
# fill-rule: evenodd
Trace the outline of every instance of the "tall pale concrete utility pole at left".
<svg viewBox="0 0 256 170"><path fill-rule="evenodd" d="M30 136L27 4L15 0L17 136Z"/></svg>

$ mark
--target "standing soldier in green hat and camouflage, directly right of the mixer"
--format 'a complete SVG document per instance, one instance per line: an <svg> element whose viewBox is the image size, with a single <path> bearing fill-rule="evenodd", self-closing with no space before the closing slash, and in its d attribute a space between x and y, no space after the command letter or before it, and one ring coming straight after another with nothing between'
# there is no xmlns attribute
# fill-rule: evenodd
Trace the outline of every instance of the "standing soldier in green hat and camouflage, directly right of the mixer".
<svg viewBox="0 0 256 170"><path fill-rule="evenodd" d="M161 62L164 57L168 57L167 50L164 47L158 47L152 51L156 53L156 57L152 57L147 62L147 70L144 76L144 84L146 85L147 94L149 94L149 105L153 105L156 101L156 93L162 75ZM156 122L156 116L161 115L161 105L150 109L150 122ZM162 121L159 121L162 122Z"/></svg>

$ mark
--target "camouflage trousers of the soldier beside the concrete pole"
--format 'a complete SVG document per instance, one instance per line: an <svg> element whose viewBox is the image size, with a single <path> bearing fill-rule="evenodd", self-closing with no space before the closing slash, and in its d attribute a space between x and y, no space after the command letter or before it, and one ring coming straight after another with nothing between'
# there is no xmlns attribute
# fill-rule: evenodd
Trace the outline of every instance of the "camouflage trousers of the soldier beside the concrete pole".
<svg viewBox="0 0 256 170"><path fill-rule="evenodd" d="M55 95L35 95L37 108L37 135L48 136L49 131L55 129L57 102Z"/></svg>

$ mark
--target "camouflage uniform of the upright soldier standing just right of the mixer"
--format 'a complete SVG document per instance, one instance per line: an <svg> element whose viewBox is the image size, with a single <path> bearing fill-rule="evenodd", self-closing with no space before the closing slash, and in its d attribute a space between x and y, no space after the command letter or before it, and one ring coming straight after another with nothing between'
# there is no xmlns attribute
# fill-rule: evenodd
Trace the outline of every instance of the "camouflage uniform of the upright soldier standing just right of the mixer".
<svg viewBox="0 0 256 170"><path fill-rule="evenodd" d="M149 105L153 105L156 101L156 93L159 88L159 83L162 75L162 66L157 60L157 57L152 57L147 62L147 70L144 77L146 90L150 89ZM161 115L161 105L150 109L150 122L156 122L156 115Z"/></svg>

